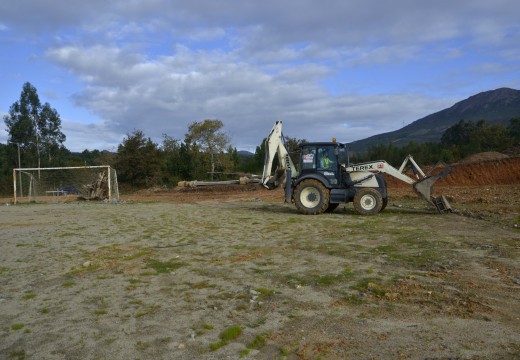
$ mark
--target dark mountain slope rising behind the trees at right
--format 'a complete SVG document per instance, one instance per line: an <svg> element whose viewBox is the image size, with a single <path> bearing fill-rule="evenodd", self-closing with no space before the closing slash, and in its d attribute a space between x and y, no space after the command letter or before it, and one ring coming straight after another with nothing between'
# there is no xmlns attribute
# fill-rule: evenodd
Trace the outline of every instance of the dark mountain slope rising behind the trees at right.
<svg viewBox="0 0 520 360"><path fill-rule="evenodd" d="M363 152L377 144L404 146L410 141L439 142L444 131L460 120L486 120L488 124L500 123L508 126L509 120L515 117L520 117L520 90L500 88L470 96L450 108L425 116L399 130L374 135L348 145L352 151Z"/></svg>

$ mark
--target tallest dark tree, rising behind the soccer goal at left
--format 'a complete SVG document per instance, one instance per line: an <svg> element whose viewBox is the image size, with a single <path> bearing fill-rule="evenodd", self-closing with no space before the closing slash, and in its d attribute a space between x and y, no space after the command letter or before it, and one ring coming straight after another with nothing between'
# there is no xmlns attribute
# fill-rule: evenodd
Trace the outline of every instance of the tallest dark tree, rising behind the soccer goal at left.
<svg viewBox="0 0 520 360"><path fill-rule="evenodd" d="M20 100L9 108L4 122L9 141L19 144L21 149L34 149L41 166L41 155L52 161L63 148L65 134L61 132L61 119L49 103L41 104L38 92L29 82L23 85Z"/></svg>

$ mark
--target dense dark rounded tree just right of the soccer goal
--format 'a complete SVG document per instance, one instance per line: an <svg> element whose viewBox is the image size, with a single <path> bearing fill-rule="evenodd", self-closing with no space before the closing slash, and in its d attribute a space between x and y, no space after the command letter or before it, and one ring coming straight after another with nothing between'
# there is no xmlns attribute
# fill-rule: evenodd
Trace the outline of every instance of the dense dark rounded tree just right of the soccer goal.
<svg viewBox="0 0 520 360"><path fill-rule="evenodd" d="M135 130L119 144L115 167L121 183L149 187L160 183L161 162L158 146L141 130Z"/></svg>

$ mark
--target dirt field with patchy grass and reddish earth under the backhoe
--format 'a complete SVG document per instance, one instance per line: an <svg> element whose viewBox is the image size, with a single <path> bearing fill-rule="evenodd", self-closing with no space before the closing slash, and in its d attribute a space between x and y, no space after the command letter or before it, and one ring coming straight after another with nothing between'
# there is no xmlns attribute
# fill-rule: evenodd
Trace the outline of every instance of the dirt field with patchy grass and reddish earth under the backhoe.
<svg viewBox="0 0 520 360"><path fill-rule="evenodd" d="M520 358L516 161L458 165L443 215L393 184L373 217L253 185L0 206L0 358Z"/></svg>

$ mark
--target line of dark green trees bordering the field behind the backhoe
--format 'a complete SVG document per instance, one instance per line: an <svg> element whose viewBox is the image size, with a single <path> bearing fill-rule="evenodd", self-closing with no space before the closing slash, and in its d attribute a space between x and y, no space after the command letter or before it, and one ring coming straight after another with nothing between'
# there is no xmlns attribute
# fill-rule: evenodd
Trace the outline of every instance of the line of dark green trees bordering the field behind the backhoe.
<svg viewBox="0 0 520 360"><path fill-rule="evenodd" d="M117 152L69 151L61 131L61 118L49 103L42 104L37 90L25 83L20 99L4 116L7 144L0 144L0 194L12 193L15 167L61 167L111 165L117 170L120 188L132 190L153 186L173 187L181 180L236 179L243 173L260 174L265 157L263 141L252 156L241 156L230 144L224 124L218 119L191 123L184 139L164 134L161 143L153 142L142 130L126 134ZM304 139L286 138L295 164ZM363 154L352 154L351 162L382 159L398 165L408 154L421 164L438 160L454 162L481 151L502 151L520 143L520 118L509 126L461 120L448 128L439 143L408 143L371 146Z"/></svg>

